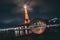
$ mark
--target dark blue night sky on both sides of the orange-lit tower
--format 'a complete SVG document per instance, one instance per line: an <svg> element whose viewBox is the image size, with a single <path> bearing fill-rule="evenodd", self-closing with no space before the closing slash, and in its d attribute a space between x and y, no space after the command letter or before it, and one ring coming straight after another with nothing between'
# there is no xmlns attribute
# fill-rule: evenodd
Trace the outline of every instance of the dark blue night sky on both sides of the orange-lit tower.
<svg viewBox="0 0 60 40"><path fill-rule="evenodd" d="M20 0L21 6L25 2L35 2L32 5L32 11L29 12L30 19L43 18L49 19L60 17L60 1L59 0ZM1 0L0 1L0 26L2 25L20 25L24 22L24 13L16 12L18 7L16 0Z"/></svg>

